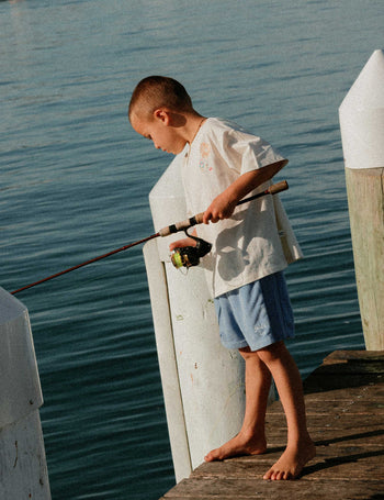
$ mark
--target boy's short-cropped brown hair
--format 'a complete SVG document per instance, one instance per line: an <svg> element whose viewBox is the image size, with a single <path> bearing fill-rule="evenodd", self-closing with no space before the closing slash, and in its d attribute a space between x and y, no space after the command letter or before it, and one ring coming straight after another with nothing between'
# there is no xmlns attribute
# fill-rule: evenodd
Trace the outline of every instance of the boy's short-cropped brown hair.
<svg viewBox="0 0 384 500"><path fill-rule="evenodd" d="M172 111L192 111L192 100L185 88L173 78L150 76L139 81L132 93L128 116L134 111L150 118L158 108Z"/></svg>

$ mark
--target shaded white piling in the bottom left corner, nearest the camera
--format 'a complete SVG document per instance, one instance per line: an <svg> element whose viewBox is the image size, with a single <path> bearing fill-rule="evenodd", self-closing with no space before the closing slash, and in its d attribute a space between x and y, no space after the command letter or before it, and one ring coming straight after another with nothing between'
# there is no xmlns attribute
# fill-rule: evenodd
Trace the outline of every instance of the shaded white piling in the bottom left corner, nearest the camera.
<svg viewBox="0 0 384 500"><path fill-rule="evenodd" d="M50 499L42 404L27 310L0 288L0 499Z"/></svg>

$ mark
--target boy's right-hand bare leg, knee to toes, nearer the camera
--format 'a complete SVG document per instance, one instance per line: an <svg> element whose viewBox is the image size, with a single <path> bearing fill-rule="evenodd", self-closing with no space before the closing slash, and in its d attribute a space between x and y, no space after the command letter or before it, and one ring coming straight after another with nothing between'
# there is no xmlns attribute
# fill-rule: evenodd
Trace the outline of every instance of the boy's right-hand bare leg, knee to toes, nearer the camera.
<svg viewBox="0 0 384 500"><path fill-rule="evenodd" d="M287 445L280 459L267 471L264 479L294 479L316 455L306 426L303 385L298 368L283 342L258 351L270 369L287 423Z"/></svg>

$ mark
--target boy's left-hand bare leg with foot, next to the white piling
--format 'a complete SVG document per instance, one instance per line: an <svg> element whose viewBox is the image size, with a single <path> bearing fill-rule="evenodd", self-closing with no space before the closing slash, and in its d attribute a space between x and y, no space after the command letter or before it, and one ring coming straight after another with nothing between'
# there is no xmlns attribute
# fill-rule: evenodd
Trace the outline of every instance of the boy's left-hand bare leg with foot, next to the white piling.
<svg viewBox="0 0 384 500"><path fill-rule="evenodd" d="M271 374L257 352L239 349L246 362L246 412L240 432L219 448L205 456L206 462L223 460L237 455L259 455L267 449L266 411Z"/></svg>

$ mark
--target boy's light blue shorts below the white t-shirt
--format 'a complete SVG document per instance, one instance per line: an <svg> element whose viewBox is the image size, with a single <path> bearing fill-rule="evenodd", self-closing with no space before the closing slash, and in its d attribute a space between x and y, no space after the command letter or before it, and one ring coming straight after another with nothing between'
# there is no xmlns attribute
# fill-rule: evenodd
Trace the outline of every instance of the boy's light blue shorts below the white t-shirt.
<svg viewBox="0 0 384 500"><path fill-rule="evenodd" d="M283 273L275 273L215 299L222 343L258 351L294 337L294 320Z"/></svg>

